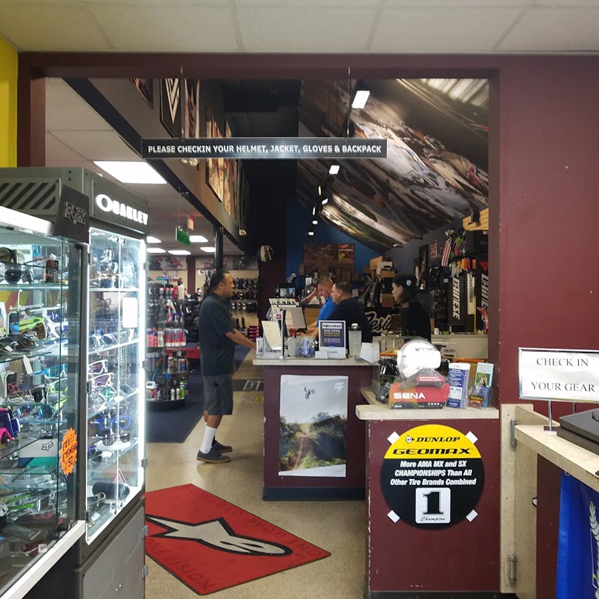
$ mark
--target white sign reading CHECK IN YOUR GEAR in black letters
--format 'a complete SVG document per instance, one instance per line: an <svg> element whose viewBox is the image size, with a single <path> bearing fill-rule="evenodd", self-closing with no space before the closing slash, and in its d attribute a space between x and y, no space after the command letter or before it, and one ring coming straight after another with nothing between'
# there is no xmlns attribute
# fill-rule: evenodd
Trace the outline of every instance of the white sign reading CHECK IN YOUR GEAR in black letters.
<svg viewBox="0 0 599 599"><path fill-rule="evenodd" d="M519 348L523 400L599 403L599 352Z"/></svg>

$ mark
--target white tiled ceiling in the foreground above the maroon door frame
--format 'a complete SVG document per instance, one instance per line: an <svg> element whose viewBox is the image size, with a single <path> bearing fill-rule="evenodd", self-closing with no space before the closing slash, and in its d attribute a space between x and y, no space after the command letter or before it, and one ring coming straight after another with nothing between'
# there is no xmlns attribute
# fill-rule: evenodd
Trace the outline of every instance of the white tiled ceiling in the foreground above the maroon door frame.
<svg viewBox="0 0 599 599"><path fill-rule="evenodd" d="M599 50L599 0L0 0L19 50Z"/></svg>

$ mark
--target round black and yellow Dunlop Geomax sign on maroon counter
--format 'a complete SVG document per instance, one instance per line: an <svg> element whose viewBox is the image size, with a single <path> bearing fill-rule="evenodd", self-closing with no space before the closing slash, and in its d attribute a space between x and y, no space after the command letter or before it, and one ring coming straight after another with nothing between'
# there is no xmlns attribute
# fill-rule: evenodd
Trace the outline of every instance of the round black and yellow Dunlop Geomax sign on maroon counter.
<svg viewBox="0 0 599 599"><path fill-rule="evenodd" d="M398 436L380 471L389 518L429 529L473 521L485 486L477 440L472 432L441 424L416 426Z"/></svg>

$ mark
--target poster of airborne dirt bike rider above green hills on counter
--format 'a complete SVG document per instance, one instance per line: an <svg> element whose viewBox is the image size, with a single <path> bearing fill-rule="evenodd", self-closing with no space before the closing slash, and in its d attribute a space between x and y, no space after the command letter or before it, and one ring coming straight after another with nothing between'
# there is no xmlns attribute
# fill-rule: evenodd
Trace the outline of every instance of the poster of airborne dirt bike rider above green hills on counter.
<svg viewBox="0 0 599 599"><path fill-rule="evenodd" d="M281 376L279 476L344 478L346 376Z"/></svg>

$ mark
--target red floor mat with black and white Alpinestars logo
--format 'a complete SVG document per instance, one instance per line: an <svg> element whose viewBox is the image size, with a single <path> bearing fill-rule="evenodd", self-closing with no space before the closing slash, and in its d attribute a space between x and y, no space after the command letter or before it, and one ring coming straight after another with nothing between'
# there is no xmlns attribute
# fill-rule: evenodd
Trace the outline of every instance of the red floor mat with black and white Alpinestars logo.
<svg viewBox="0 0 599 599"><path fill-rule="evenodd" d="M331 555L195 485L146 493L146 553L208 595Z"/></svg>

